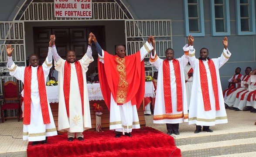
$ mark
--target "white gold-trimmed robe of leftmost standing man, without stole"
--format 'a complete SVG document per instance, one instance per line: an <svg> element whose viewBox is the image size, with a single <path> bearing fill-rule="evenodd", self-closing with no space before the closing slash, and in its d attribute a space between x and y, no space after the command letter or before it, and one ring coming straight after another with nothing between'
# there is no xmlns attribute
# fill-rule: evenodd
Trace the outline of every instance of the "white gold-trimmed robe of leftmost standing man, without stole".
<svg viewBox="0 0 256 157"><path fill-rule="evenodd" d="M51 51L51 48L49 48L49 51ZM42 66L44 71L44 82L46 84L46 78L49 75L52 64L48 61L47 58ZM24 83L25 67L18 67L17 65L13 64L8 69L11 76L14 76L15 78ZM38 89L38 66L31 67L31 71L31 122L29 125L23 125L23 140L41 141L45 140L45 137L57 135L57 130L48 100L48 110L51 123L44 124Z"/></svg>

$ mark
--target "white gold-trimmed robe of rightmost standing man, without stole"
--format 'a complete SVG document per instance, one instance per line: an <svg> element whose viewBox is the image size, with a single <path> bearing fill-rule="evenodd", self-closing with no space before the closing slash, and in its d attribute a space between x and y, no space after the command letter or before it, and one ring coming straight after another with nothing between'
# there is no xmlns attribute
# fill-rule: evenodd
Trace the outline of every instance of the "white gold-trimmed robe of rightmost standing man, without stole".
<svg viewBox="0 0 256 157"><path fill-rule="evenodd" d="M192 47L190 49L193 49ZM217 85L218 85L218 102L220 110L216 111L215 109L215 97L212 87L212 76L208 66L208 60L203 61L205 65L207 82L208 82L208 90L210 96L211 110L205 111L203 94L201 90L201 82L200 82L200 71L199 71L199 60L195 58L195 49L193 51L189 51L189 62L191 67L194 70L193 73L193 85L192 85L192 93L190 99L189 106L189 114L188 114L188 124L196 124L202 126L214 126L215 124L228 123L227 114L224 105L224 99L222 95L222 86L219 77L219 68L225 64L229 60L231 53L229 50L223 50L222 55L218 58L212 58L212 61L215 65L216 75L217 75Z"/></svg>

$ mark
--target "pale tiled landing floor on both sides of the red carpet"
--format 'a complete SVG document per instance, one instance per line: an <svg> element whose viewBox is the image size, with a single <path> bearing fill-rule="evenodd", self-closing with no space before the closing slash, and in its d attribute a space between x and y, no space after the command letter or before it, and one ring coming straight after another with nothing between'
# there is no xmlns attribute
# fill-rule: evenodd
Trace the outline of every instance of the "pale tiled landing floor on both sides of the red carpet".
<svg viewBox="0 0 256 157"><path fill-rule="evenodd" d="M213 133L201 132L195 134L195 125L188 125L181 123L179 126L180 135L175 135L175 140L207 137L207 136L221 136L227 133L240 133L256 131L256 113L249 111L234 111L227 109L229 123L218 124L210 127ZM165 124L154 124L153 115L145 116L146 125L166 133ZM17 122L17 119L8 119L4 123L0 123L0 157L9 156L26 156L27 141L22 140L23 122Z"/></svg>

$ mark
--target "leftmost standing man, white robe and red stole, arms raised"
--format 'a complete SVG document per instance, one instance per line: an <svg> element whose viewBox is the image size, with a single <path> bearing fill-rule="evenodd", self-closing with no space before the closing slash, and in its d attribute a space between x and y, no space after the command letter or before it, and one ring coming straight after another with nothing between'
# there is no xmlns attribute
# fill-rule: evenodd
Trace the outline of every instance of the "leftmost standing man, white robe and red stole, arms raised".
<svg viewBox="0 0 256 157"><path fill-rule="evenodd" d="M32 145L47 143L47 137L57 135L51 107L46 95L46 78L52 67L53 38L49 42L48 56L43 65L39 65L37 55L29 56L30 65L18 67L12 60L14 48L7 45L7 68L10 75L24 83L24 119L23 140L33 141Z"/></svg>

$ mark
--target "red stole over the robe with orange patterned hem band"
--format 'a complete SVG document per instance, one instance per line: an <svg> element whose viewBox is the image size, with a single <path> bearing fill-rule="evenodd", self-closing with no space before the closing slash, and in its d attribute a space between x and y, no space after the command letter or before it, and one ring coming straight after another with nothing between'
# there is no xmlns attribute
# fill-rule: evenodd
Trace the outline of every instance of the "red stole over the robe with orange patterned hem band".
<svg viewBox="0 0 256 157"><path fill-rule="evenodd" d="M178 60L173 59L174 74L176 79L176 92L177 92L177 111L182 111L182 84L181 84L181 68ZM167 59L163 61L163 84L164 84L164 105L165 113L172 113L171 102L171 76L170 64Z"/></svg>

